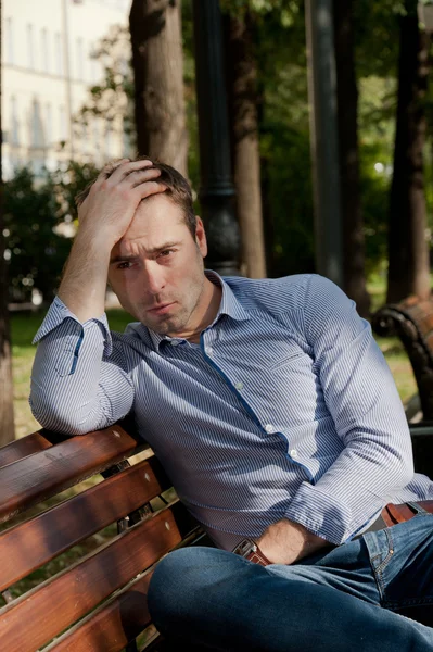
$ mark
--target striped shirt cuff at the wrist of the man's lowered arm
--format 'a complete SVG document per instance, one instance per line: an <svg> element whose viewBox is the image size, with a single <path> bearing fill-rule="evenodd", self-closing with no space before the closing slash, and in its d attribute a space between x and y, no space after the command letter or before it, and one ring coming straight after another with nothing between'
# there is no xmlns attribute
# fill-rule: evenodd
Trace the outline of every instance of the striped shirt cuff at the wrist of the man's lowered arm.
<svg viewBox="0 0 433 652"><path fill-rule="evenodd" d="M301 485L284 516L336 546L352 534L349 506L309 482Z"/></svg>

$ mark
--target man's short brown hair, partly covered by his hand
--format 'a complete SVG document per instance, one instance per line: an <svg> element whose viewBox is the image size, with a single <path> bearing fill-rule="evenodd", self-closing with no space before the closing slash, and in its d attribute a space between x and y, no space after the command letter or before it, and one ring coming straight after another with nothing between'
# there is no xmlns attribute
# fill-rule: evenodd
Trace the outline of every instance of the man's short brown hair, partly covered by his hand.
<svg viewBox="0 0 433 652"><path fill-rule="evenodd" d="M166 190L164 195L169 197L174 204L179 206L183 212L184 223L188 226L189 231L191 233L193 239L195 240L195 227L196 227L196 218L192 202L192 192L191 186L183 175L180 174L177 170L171 167L171 165L167 165L166 163L160 163L155 159L151 159L150 156L137 156L137 159L131 159L131 162L135 161L152 161L152 167L156 167L156 170L161 171L161 176L158 176L157 181L164 184ZM109 178L113 172L116 170L118 163L113 162L106 167L106 178ZM93 186L95 179L93 179L81 192L75 198L75 202L77 206L80 206L85 201L86 197L90 192L90 188ZM143 200L145 201L145 199Z"/></svg>

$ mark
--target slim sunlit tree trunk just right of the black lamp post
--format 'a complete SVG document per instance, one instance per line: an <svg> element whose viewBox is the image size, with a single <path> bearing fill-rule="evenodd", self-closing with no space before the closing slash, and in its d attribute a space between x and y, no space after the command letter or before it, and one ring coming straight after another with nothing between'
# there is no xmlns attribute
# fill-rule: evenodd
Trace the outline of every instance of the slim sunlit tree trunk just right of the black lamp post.
<svg viewBox="0 0 433 652"><path fill-rule="evenodd" d="M232 135L237 211L242 238L243 273L266 276L262 217L260 156L257 125L257 71L253 54L251 13L225 16L227 85Z"/></svg>

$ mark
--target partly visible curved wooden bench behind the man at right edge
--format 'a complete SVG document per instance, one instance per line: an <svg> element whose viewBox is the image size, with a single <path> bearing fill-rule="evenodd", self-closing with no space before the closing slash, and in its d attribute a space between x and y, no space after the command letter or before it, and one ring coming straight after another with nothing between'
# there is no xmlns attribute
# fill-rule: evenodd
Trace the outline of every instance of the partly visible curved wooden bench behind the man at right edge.
<svg viewBox="0 0 433 652"><path fill-rule="evenodd" d="M371 318L381 337L398 337L417 381L422 421L410 423L416 469L433 475L433 299L409 297L380 308Z"/></svg>

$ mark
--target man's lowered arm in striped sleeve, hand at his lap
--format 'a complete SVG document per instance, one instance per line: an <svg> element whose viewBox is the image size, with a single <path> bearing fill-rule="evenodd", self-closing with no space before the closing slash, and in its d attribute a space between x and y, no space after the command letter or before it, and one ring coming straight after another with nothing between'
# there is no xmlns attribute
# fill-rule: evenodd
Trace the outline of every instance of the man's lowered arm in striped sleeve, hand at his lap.
<svg viewBox="0 0 433 652"><path fill-rule="evenodd" d="M342 543L413 475L402 401L371 328L356 313L354 302L328 279L311 276L304 330L345 448L315 484L302 482L285 518L258 540L264 554L278 563Z"/></svg>

